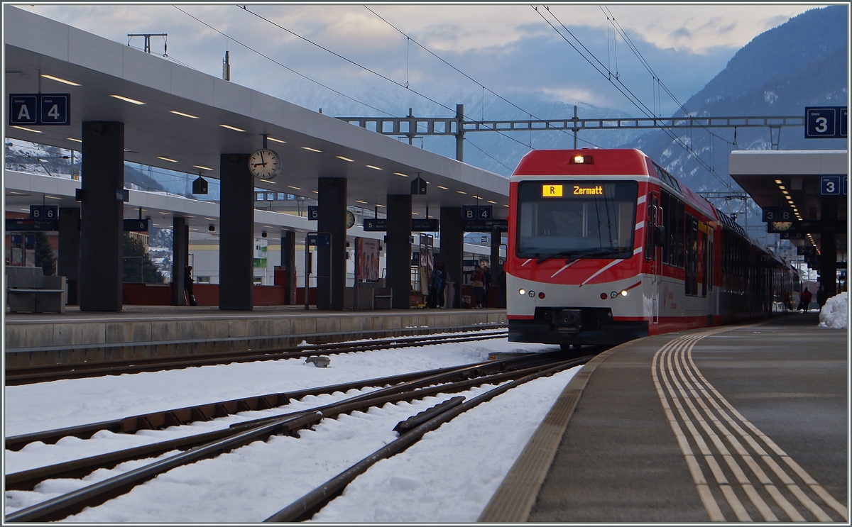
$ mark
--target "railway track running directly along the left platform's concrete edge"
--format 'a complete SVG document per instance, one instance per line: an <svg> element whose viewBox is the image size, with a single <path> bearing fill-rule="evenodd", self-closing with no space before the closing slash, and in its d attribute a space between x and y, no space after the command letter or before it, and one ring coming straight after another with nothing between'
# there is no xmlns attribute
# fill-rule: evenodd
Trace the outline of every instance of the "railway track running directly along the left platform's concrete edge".
<svg viewBox="0 0 852 527"><path fill-rule="evenodd" d="M376 349L398 347L432 346L455 342L482 341L498 339L508 335L505 329L489 329L475 333L451 335L418 335L412 337L394 337L366 341L353 341L331 344L311 344L300 347L287 347L272 350L245 350L244 352L222 352L215 354L181 355L163 358L134 358L110 361L108 363L73 363L32 366L6 369L6 386L33 384L36 382L78 379L101 375L122 375L167 369L181 369L215 364L253 362L258 360L277 360L281 358L302 358L311 355L331 355L339 353L366 352Z"/></svg>

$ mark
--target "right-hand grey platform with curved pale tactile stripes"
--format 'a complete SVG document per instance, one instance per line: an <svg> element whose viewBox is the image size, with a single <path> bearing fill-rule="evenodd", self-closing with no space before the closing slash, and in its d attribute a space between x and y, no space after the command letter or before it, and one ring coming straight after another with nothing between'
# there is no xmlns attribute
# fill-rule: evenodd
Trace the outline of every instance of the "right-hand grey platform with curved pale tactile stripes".
<svg viewBox="0 0 852 527"><path fill-rule="evenodd" d="M847 522L848 332L815 313L646 337L584 366L486 522Z"/></svg>

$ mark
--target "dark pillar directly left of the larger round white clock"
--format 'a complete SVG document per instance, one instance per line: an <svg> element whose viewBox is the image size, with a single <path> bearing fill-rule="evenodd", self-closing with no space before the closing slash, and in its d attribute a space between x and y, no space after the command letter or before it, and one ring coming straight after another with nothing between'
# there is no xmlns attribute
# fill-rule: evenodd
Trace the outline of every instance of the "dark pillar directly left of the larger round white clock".
<svg viewBox="0 0 852 527"><path fill-rule="evenodd" d="M254 306L255 186L249 154L222 154L219 216L219 309Z"/></svg>

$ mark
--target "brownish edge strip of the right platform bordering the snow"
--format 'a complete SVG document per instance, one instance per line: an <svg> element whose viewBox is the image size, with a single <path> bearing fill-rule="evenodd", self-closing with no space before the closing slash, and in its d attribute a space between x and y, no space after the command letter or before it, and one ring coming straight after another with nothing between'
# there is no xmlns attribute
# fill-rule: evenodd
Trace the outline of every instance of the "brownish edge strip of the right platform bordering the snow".
<svg viewBox="0 0 852 527"><path fill-rule="evenodd" d="M541 489L544 478L550 470L550 464L556 456L556 448L562 440L568 421L571 420L574 409L577 408L589 378L598 365L614 352L625 347L636 346L647 338L642 337L636 341L626 342L598 354L573 376L476 521L486 523L527 521L538 497L538 490Z"/></svg>

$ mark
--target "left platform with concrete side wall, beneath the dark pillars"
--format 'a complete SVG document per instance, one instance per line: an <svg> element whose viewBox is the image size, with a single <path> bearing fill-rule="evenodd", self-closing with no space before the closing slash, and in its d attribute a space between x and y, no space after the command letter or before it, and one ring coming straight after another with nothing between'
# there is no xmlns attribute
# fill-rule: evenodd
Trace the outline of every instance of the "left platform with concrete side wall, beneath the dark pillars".
<svg viewBox="0 0 852 527"><path fill-rule="evenodd" d="M504 309L320 312L304 306L125 306L121 312L6 313L7 369L176 357L428 335L506 324Z"/></svg>

